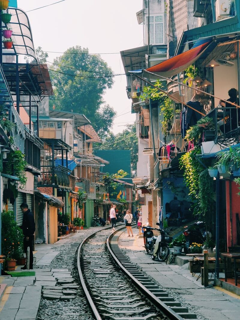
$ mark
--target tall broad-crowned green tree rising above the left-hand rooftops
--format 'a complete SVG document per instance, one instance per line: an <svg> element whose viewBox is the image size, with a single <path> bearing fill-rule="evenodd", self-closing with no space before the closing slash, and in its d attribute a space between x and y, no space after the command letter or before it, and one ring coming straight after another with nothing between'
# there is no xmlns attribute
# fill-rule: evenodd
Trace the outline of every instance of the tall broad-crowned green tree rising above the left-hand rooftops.
<svg viewBox="0 0 240 320"><path fill-rule="evenodd" d="M107 132L114 111L111 109L107 116L108 106L103 111L100 108L104 104L103 94L113 85L112 69L100 55L89 54L87 48L78 45L68 48L53 63L49 70L54 91L50 108L55 105L57 110L84 114L101 135Z"/></svg>

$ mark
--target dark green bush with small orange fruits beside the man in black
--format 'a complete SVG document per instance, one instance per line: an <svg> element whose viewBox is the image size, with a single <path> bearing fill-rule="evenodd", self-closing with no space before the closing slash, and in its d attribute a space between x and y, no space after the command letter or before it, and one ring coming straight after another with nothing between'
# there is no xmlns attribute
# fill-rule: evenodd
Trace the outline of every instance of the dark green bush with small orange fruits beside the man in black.
<svg viewBox="0 0 240 320"><path fill-rule="evenodd" d="M14 220L13 211L3 211L2 215L2 254L6 259L19 259L23 255L23 233Z"/></svg>

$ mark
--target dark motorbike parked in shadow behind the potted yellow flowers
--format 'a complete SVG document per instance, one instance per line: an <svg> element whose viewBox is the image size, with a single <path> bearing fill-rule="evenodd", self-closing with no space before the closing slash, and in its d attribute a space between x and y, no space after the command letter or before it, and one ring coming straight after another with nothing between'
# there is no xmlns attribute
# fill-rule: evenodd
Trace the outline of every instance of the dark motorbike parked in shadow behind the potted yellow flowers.
<svg viewBox="0 0 240 320"><path fill-rule="evenodd" d="M203 221L197 221L189 224L185 227L182 234L186 238L186 243L184 245L184 252L188 253L188 248L193 242L203 244L206 240L207 232L206 232L206 224ZM209 237L212 238L211 232L208 232Z"/></svg>

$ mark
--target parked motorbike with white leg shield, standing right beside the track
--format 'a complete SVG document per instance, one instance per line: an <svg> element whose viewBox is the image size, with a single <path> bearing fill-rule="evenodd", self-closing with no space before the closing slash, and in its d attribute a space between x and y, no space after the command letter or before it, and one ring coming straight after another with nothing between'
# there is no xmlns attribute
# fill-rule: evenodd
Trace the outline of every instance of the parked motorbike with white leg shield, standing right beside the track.
<svg viewBox="0 0 240 320"><path fill-rule="evenodd" d="M156 223L157 226L160 226L159 223ZM144 238L144 245L146 243L146 251L151 254L152 260L157 260L163 262L167 259L169 255L169 243L172 242L172 237L169 234L162 230L161 228L151 228L150 226L143 227L146 229ZM159 235L156 237L153 235L153 231L156 230L159 232ZM152 237L150 237L152 235Z"/></svg>

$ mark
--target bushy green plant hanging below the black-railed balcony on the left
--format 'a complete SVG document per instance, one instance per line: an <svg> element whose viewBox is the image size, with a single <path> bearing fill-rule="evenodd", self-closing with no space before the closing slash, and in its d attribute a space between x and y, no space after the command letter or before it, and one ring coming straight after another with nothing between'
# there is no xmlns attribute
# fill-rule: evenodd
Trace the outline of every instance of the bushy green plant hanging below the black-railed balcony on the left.
<svg viewBox="0 0 240 320"><path fill-rule="evenodd" d="M18 177L19 183L24 186L27 182L26 165L24 154L20 150L11 151L7 155L7 161L4 162L4 172Z"/></svg>

